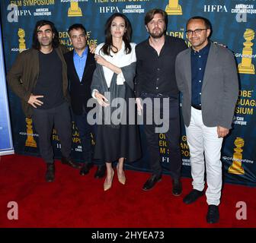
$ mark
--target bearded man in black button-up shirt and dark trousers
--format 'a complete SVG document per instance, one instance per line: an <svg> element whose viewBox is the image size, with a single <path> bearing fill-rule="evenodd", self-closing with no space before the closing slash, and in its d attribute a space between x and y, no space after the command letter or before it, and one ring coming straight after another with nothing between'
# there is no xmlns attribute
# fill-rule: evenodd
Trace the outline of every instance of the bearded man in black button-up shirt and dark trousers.
<svg viewBox="0 0 256 243"><path fill-rule="evenodd" d="M149 38L136 46L136 102L138 112L143 111L144 132L149 149L149 163L152 176L143 186L144 191L153 188L162 178L160 164L158 132L155 131L162 114L168 113L163 121L168 126L165 136L169 149L170 174L173 181L172 194L181 195L181 150L180 150L180 114L179 91L175 80L175 58L179 52L187 49L183 39L166 36L168 17L162 9L152 9L145 17L146 30ZM142 106L141 99L152 101L152 105ZM164 102L165 100L165 102ZM168 100L168 106L165 106ZM154 103L158 101L160 106ZM146 116L159 114L147 124ZM152 116L151 115L151 116ZM164 116L165 117L165 116Z"/></svg>

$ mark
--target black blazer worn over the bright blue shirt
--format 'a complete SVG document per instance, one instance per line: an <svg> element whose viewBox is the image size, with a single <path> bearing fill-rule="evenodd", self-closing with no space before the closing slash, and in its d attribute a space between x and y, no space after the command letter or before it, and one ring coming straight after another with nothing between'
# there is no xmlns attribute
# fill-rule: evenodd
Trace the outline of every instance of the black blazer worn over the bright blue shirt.
<svg viewBox="0 0 256 243"><path fill-rule="evenodd" d="M85 70L80 82L78 74L75 71L73 60L74 50L67 52L64 57L68 68L69 92L71 96L72 111L75 115L82 115L83 107L88 112L91 108L86 106L88 99L91 98L91 80L96 68L94 54L88 50L88 56L85 64Z"/></svg>

